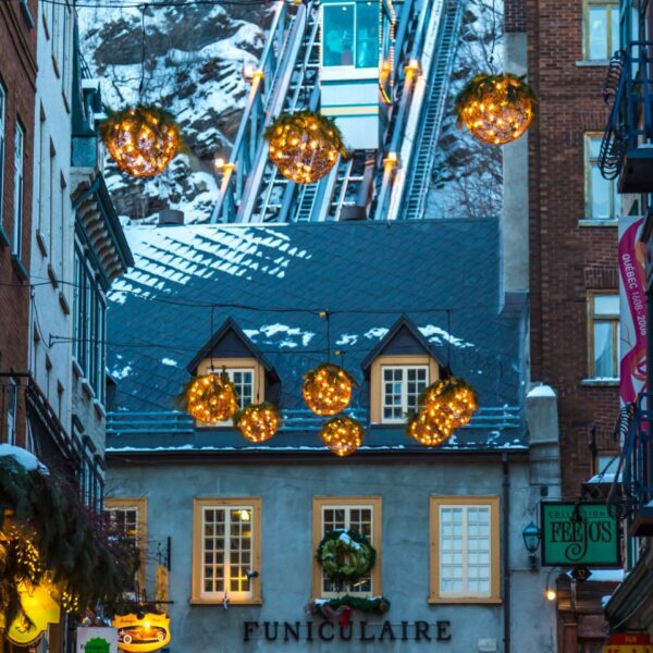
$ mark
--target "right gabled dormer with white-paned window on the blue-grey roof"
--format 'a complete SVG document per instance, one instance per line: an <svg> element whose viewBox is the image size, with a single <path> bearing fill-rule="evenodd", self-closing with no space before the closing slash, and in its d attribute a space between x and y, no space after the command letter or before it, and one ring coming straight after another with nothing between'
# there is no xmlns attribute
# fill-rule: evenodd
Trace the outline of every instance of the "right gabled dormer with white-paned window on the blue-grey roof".
<svg viewBox="0 0 653 653"><path fill-rule="evenodd" d="M362 361L370 383L371 423L402 424L444 366L415 323L402 316Z"/></svg>

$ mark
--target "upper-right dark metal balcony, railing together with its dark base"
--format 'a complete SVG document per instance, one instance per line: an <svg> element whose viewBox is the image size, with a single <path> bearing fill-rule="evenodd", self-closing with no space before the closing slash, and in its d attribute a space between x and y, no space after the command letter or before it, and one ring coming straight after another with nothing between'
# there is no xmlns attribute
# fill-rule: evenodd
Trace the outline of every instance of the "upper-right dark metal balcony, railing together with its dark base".
<svg viewBox="0 0 653 653"><path fill-rule="evenodd" d="M603 176L619 177L620 193L653 192L653 41L632 41L613 57L604 98L613 106L601 144Z"/></svg>

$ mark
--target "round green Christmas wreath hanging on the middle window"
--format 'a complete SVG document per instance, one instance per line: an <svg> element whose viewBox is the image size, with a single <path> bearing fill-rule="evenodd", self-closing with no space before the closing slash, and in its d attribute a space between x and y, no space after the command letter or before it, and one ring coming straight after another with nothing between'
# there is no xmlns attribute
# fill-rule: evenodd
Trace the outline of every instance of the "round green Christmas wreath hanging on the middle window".
<svg viewBox="0 0 653 653"><path fill-rule="evenodd" d="M324 535L316 559L333 582L355 582L374 566L377 551L365 535L336 529Z"/></svg>

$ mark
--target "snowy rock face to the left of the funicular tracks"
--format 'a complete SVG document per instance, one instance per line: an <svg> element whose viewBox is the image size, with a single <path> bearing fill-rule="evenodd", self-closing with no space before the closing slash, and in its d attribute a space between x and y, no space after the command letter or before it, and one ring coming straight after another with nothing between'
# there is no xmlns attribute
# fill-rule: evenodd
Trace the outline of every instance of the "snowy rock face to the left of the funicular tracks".
<svg viewBox="0 0 653 653"><path fill-rule="evenodd" d="M128 177L108 161L119 213L151 222L159 210L173 208L184 210L187 222L208 221L218 192L212 163L229 155L237 132L248 94L242 70L260 56L268 10L152 2L143 12L79 8L78 15L82 51L102 79L104 104L119 109L139 98L160 103L186 140L186 151L153 180Z"/></svg>

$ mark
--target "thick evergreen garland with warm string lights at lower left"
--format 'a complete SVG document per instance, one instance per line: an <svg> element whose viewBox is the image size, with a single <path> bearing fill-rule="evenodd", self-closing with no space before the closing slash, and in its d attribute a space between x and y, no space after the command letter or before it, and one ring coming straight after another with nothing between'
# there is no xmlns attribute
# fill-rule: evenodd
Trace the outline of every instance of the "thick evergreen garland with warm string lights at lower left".
<svg viewBox="0 0 653 653"><path fill-rule="evenodd" d="M22 614L21 582L36 586L47 576L79 609L112 603L128 589L133 569L125 565L137 552L106 540L63 479L0 457L0 621L7 626Z"/></svg>

